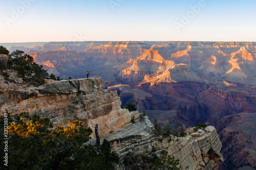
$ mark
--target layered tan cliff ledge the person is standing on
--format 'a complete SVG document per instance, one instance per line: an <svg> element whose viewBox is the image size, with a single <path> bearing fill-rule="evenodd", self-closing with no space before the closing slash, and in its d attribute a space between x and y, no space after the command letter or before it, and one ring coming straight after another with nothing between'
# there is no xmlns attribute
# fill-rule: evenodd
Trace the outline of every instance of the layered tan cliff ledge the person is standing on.
<svg viewBox="0 0 256 170"><path fill-rule="evenodd" d="M102 90L100 78L55 81L39 87L7 89L0 96L2 113L17 115L21 112L49 117L53 126L67 126L79 120L94 130L99 124L102 137L131 122L133 115L121 109L116 91Z"/></svg>

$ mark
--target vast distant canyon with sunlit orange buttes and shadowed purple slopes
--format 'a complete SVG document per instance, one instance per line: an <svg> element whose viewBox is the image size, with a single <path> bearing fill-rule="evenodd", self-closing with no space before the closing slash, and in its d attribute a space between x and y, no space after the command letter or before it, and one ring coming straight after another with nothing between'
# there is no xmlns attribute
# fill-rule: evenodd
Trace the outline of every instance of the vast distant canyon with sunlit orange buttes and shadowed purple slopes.
<svg viewBox="0 0 256 170"><path fill-rule="evenodd" d="M90 71L91 77L103 80L100 88L117 91L113 93L120 97L121 106L133 103L138 110L146 110L152 122L157 118L162 126L168 124L189 129L198 122L212 125L223 143L221 153L226 163L221 163L220 169L255 168L252 152L256 149L255 145L241 147L240 144L241 141L249 142L255 131L248 127L248 132L245 128L242 133L247 135L231 135L235 133L232 132L235 127L231 125L236 124L237 119L230 118L243 114L252 117L256 112L255 42L84 41L3 45L8 45L10 52L16 49L24 51L36 63L48 69L49 74L63 79L71 76L80 80L86 77L86 71ZM26 95L45 95L50 100L52 91L33 90L28 89ZM25 95L9 93L7 96L15 100ZM73 94L67 95L71 98ZM4 97L1 99L7 100ZM78 100L80 97L74 99L82 105ZM63 104L66 106L63 108L67 113L76 108L67 108L66 104ZM15 112L15 108L6 108ZM56 115L59 114L58 109L54 111ZM81 108L76 109L78 117L86 112ZM44 115L42 110L38 113ZM247 120L244 118L241 121L246 124ZM255 123L256 120L252 118L251 121ZM219 127L220 124L222 127ZM225 130L229 126L231 130ZM232 140L227 136L232 136ZM234 148L241 151L234 151ZM248 156L241 160L243 154Z"/></svg>

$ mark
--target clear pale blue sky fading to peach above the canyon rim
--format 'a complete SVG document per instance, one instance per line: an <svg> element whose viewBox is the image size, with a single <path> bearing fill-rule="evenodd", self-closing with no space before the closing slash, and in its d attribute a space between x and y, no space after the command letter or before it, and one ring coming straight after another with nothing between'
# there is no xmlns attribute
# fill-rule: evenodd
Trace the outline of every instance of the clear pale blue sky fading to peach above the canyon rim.
<svg viewBox="0 0 256 170"><path fill-rule="evenodd" d="M0 43L256 41L255 0L0 0Z"/></svg>

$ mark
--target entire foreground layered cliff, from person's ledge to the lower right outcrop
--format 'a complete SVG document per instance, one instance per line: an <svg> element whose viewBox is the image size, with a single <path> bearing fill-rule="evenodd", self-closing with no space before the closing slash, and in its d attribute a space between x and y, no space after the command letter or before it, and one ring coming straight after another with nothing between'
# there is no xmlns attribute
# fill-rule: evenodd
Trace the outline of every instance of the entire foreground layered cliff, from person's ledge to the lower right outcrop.
<svg viewBox="0 0 256 170"><path fill-rule="evenodd" d="M9 70L10 71L10 70ZM99 78L47 81L34 87L19 80L15 71L10 71L10 79L0 76L0 111L17 116L20 112L49 117L54 127L67 126L79 120L85 127L94 130L98 124L101 138L111 142L111 148L119 156L116 169L124 169L123 161L127 153L147 156L148 159L163 152L179 159L182 169L218 169L223 161L222 147L217 131L208 126L194 132L187 130L185 137L170 135L157 136L155 128L147 116L138 111L121 109L120 97L116 91L102 89ZM134 117L135 123L131 123ZM95 145L95 136L91 143ZM141 162L143 163L143 161Z"/></svg>

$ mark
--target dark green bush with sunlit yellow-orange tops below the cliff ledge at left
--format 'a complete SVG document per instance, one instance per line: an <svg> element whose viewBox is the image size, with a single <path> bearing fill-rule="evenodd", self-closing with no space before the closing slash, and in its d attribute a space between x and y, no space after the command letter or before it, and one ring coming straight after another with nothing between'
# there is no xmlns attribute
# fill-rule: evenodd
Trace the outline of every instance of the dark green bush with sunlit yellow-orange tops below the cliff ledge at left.
<svg viewBox="0 0 256 170"><path fill-rule="evenodd" d="M22 113L15 120L8 117L9 169L113 169L118 157L110 150L106 140L97 154L92 145L83 145L92 130L81 122L70 123L67 128L52 129L49 118ZM4 118L0 118L0 142L4 142ZM3 148L2 148L3 149ZM4 157L4 152L0 152Z"/></svg>

